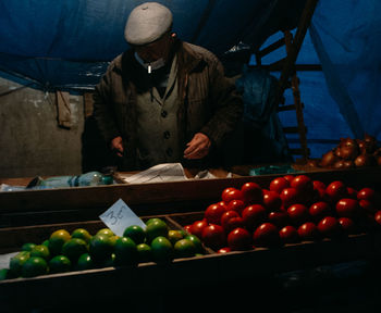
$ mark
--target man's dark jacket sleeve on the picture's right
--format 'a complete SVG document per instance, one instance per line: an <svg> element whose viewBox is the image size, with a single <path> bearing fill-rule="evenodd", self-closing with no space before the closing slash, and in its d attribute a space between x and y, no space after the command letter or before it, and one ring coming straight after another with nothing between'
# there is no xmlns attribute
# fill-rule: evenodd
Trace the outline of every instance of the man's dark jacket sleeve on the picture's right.
<svg viewBox="0 0 381 313"><path fill-rule="evenodd" d="M210 105L213 113L200 132L218 147L225 135L241 123L244 104L234 83L224 76L223 66L217 58L209 64L209 72Z"/></svg>

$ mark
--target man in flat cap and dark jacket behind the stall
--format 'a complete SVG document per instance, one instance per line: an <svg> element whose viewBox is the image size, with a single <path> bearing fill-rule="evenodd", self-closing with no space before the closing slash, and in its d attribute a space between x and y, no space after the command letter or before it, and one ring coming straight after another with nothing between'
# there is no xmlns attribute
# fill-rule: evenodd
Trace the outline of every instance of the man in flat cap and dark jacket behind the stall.
<svg viewBox="0 0 381 313"><path fill-rule="evenodd" d="M219 60L176 38L172 18L156 2L135 8L124 33L132 48L111 62L96 87L94 117L121 158L120 170L217 165L241 121L242 99Z"/></svg>

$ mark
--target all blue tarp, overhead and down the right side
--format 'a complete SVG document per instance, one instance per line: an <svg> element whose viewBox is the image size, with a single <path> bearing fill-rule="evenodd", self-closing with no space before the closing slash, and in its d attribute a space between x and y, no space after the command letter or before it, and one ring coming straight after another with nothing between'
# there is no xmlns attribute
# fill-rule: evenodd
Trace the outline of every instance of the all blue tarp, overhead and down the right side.
<svg viewBox="0 0 381 313"><path fill-rule="evenodd" d="M135 0L0 0L0 71L40 89L93 89L108 62L123 52ZM244 42L254 49L293 28L306 1L167 0L174 32L218 55ZM297 63L311 156L340 137L381 138L381 17L378 0L320 0ZM263 43L266 41L266 43ZM278 60L278 53L265 61ZM291 95L286 95L290 100ZM282 124L295 116L280 115ZM290 139L291 143L293 139Z"/></svg>

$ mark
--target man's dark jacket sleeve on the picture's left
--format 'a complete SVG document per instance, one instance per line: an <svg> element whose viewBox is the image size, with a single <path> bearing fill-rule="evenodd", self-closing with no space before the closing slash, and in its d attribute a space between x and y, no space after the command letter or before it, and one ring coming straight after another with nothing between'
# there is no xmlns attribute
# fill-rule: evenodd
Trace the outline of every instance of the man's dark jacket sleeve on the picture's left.
<svg viewBox="0 0 381 313"><path fill-rule="evenodd" d="M116 126L112 99L112 63L100 83L96 86L94 99L94 118L105 141L109 143L113 138L121 136Z"/></svg>

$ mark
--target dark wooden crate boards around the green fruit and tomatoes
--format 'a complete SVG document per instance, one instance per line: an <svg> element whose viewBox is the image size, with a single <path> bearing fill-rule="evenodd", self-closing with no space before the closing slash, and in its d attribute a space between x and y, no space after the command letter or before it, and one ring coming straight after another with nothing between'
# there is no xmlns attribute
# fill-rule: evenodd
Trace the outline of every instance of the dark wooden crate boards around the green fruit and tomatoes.
<svg viewBox="0 0 381 313"><path fill-rule="evenodd" d="M307 173L324 183L343 180L349 186L370 186L380 190L378 168L319 171ZM0 193L0 253L16 251L22 243L40 241L54 229L84 227L95 233L105 227L97 221L118 199L122 198L139 216L160 216L173 227L183 227L198 220L207 205L221 197L226 187L241 187L256 181L265 188L276 176L237 177L181 183L116 185L75 189L33 190ZM83 296L110 302L139 295L160 296L173 292L173 286L221 290L232 281L258 280L279 273L311 268L352 260L379 262L379 233L353 235L345 240L300 242L282 248L257 248L249 251L216 253L207 250L202 256L176 259L167 264L153 262L137 266L105 267L34 278L0 281L1 311L54 308L57 303L75 303ZM160 291L152 281L160 281ZM112 288L101 288L112 286ZM67 300L67 290L71 300ZM85 291L84 291L85 290ZM188 290L188 289L187 289ZM84 293L85 292L85 293ZM23 301L19 301L23 295ZM98 303L99 304L99 303ZM69 304L70 305L70 304Z"/></svg>

